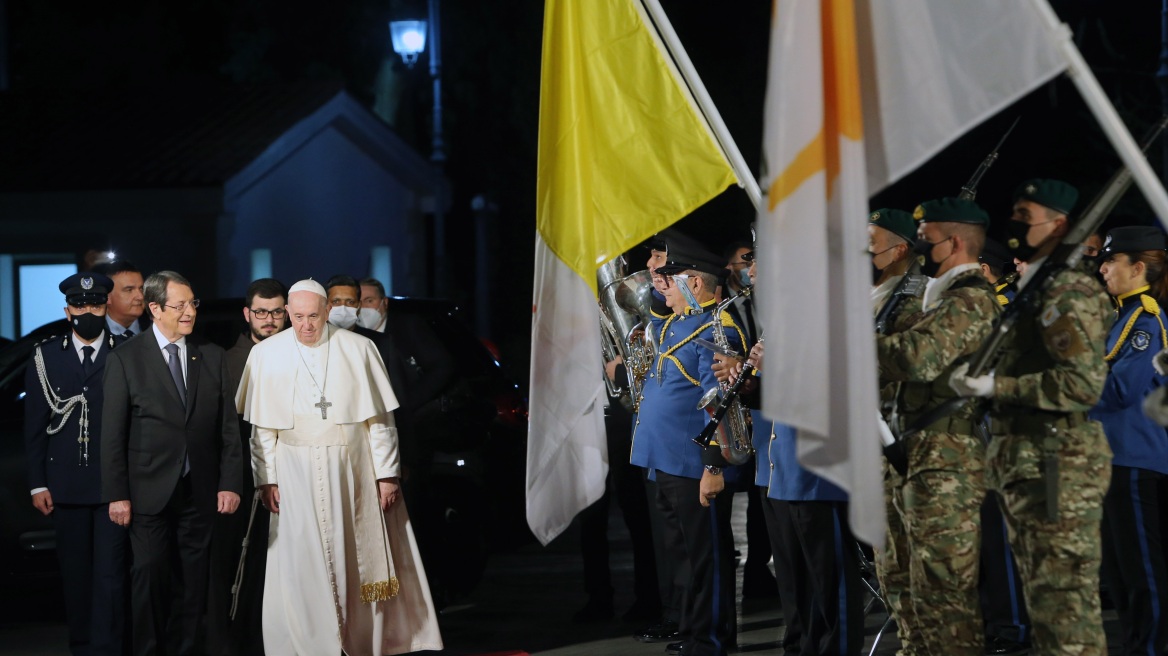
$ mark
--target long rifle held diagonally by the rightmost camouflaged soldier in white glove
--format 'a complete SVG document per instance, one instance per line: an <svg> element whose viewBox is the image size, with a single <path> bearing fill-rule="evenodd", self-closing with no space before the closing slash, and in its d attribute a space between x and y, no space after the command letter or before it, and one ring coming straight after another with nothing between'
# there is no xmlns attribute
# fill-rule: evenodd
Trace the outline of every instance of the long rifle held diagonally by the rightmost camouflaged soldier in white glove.
<svg viewBox="0 0 1168 656"><path fill-rule="evenodd" d="M1148 147L1155 142L1166 127L1168 127L1168 114L1160 117L1160 120L1148 130L1140 144L1140 149L1147 152ZM1103 225L1107 215L1111 214L1111 210L1115 208L1115 204L1119 203L1119 200L1124 197L1124 194L1131 186L1132 172L1126 166L1120 167L1091 201L1091 204L1084 210L1078 222L1066 232L1063 242L1042 263L1042 266L1038 267L1034 277L1028 281L1022 281L1014 302L1006 306L1006 310L997 319L993 333L978 348L973 357L969 358L969 377L985 376L997 365L1007 339L1017 329L1018 322L1023 316L1037 312L1043 287L1059 271L1079 264L1079 260L1083 259L1083 240ZM910 426L902 435L902 439L911 437L925 426L953 414L968 400L968 397L957 397L934 407L918 419L913 426Z"/></svg>

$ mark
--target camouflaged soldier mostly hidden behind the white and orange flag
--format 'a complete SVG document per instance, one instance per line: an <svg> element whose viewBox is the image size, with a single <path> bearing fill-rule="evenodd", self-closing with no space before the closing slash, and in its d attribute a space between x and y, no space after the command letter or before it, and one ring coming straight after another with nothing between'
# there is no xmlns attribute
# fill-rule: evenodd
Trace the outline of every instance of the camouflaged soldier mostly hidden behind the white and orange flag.
<svg viewBox="0 0 1168 656"><path fill-rule="evenodd" d="M868 252L872 256L872 312L880 315L884 303L901 284L909 264L916 257L912 243L917 239L917 222L912 215L897 209L883 208L868 217ZM891 321L891 332L909 328L910 317L920 313L920 298L906 296ZM881 409L888 419L896 400L897 384L881 378ZM896 620L897 636L901 638L902 655L917 654L913 629L917 626L909 596L909 543L901 523L901 489L904 479L888 462L884 462L884 514L888 518L888 535L884 549L876 552L876 578L888 612Z"/></svg>

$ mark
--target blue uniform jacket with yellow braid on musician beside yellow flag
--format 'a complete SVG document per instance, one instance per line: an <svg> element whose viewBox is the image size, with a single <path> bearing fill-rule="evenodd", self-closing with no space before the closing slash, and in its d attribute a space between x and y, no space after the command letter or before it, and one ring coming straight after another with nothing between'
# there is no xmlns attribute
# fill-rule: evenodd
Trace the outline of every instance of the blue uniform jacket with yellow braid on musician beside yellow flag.
<svg viewBox="0 0 1168 656"><path fill-rule="evenodd" d="M694 438L708 420L698 410L705 390L717 386L710 367L714 351L696 340L714 341L714 301L703 303L702 314L668 317L654 316L651 328L658 337L658 358L645 378L640 413L633 427L633 465L661 470L674 476L702 477L702 448ZM730 314L719 317L730 347L743 353L744 335ZM735 479L736 467L728 468L726 482ZM651 472L653 474L653 472Z"/></svg>

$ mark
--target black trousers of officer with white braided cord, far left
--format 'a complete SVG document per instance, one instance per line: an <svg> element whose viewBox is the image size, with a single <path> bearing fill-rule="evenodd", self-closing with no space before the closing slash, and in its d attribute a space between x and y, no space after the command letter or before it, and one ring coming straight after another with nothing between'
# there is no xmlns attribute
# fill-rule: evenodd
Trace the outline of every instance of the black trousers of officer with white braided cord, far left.
<svg viewBox="0 0 1168 656"><path fill-rule="evenodd" d="M57 503L53 508L64 584L69 649L120 656L130 601L130 537L110 521L110 505Z"/></svg>

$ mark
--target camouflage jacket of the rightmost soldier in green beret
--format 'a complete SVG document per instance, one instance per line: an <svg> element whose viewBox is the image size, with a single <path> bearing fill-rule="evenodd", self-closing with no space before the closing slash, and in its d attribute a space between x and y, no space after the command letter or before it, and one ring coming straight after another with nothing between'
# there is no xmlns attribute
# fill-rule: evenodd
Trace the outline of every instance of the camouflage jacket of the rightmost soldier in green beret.
<svg viewBox="0 0 1168 656"><path fill-rule="evenodd" d="M1064 268L1023 315L995 369L995 414L1086 412L1107 378L1104 349L1112 305L1094 277Z"/></svg>

